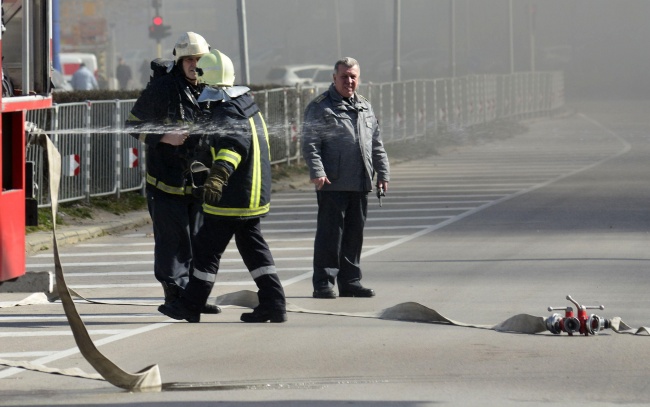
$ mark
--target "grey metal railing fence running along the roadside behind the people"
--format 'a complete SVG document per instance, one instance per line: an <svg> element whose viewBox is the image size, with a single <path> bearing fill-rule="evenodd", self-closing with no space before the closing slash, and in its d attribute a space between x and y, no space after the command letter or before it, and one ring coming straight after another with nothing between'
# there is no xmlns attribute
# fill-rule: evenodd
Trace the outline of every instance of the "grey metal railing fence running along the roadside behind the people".
<svg viewBox="0 0 650 407"><path fill-rule="evenodd" d="M252 92L269 130L274 164L301 159L300 129L307 104L327 88L304 86ZM385 143L436 137L449 129L497 119L551 115L564 105L562 72L470 75L359 85L379 119ZM60 201L119 195L144 188L145 149L124 133L135 100L55 104L27 112L27 120L51 134L62 158ZM35 181L44 186L44 155L30 146ZM36 192L39 207L50 205L45 188Z"/></svg>

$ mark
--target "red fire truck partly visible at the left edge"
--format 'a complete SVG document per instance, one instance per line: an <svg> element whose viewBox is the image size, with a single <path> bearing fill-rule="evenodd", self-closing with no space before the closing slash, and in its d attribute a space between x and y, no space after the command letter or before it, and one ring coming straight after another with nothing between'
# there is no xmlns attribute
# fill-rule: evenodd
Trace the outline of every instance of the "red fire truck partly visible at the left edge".
<svg viewBox="0 0 650 407"><path fill-rule="evenodd" d="M25 117L52 106L52 0L2 0L2 10L0 284L25 274L25 225L37 209L25 160Z"/></svg>

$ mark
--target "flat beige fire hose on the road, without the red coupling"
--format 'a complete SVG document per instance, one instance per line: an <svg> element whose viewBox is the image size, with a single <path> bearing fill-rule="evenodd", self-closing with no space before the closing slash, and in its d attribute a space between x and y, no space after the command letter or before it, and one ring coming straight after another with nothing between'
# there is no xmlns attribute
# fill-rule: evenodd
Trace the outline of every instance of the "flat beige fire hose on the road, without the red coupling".
<svg viewBox="0 0 650 407"><path fill-rule="evenodd" d="M110 359L104 356L96 348L92 339L90 338L86 327L81 320L72 297L79 297L91 303L97 304L117 304L115 302L105 303L101 301L89 300L74 290L69 289L64 278L63 268L61 266L61 261L59 259L59 250L57 246L56 239L56 211L58 207L58 192L59 192L59 181L61 174L61 156L57 149L54 147L50 139L46 134L38 134L33 139L37 144L45 148L48 157L49 163L49 174L50 174L50 195L52 200L52 219L53 219L53 249L54 249L54 264L55 264L55 276L56 276L56 287L58 291L58 296L61 299L63 308L65 310L66 317L72 329L72 333L75 338L75 342L84 356L84 358L97 370L99 374L86 373L80 369L56 369L49 368L42 365L36 365L29 362L15 362L5 359L0 359L0 365L19 367L27 370L40 371L45 373L61 374L75 377L82 377L87 379L96 379L96 380L106 380L114 386L127 389L127 390L156 390L160 389L162 386L160 371L158 365L152 365L144 368L143 370L137 373L128 373L122 370L119 366L113 363ZM192 168L192 172L201 172L205 171L206 168L201 166L196 166ZM17 301L8 306L22 306L29 304L42 303L43 301L48 301L45 294L32 294L28 298ZM255 308L258 305L257 293L249 290L237 291L229 294L219 296L216 300L218 305L222 307L235 306L235 307L246 307L246 308ZM127 303L119 303L124 305ZM131 304L131 305L150 305L150 304ZM2 305L0 305L2 307ZM430 323L430 324L442 324L442 325L454 325L468 328L478 328L478 329L489 329L497 332L511 332L511 333L524 333L524 334L537 334L548 332L549 327L547 324L547 319L540 316L533 316L528 314L518 314L513 317L508 318L507 320L496 324L496 325L475 325L467 324L464 322L455 321L449 319L441 314L439 314L434 309L428 308L424 305L418 304L416 302L405 302L401 304L394 305L389 308L385 308L375 312L332 312L332 311L319 311L319 310L310 310L306 308L299 307L295 304L287 303L287 311L297 312L297 313L309 313L309 314L320 314L320 315L333 315L333 316L343 316L343 317L357 317L357 318L375 318L383 320L393 320L393 321L405 321L405 322L419 322L419 323ZM620 317L614 317L609 320L609 329L613 330L616 333L620 334L631 334L631 335L650 335L650 328L648 327L639 327L632 328L628 326L625 322L621 320Z"/></svg>

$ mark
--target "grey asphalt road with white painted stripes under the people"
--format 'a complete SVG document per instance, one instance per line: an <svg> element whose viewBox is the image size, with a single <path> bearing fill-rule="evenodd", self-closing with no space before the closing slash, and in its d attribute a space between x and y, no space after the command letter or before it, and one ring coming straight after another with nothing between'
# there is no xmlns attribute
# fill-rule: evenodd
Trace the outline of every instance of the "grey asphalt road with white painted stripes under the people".
<svg viewBox="0 0 650 407"><path fill-rule="evenodd" d="M278 193L263 229L287 300L307 310L372 313L417 303L487 327L547 307L650 326L649 103L573 104L523 135L393 167L371 199L363 283L371 299L311 298L315 196ZM244 324L224 307L200 324L158 314L151 228L62 249L67 281L98 349L122 369L158 364L160 392L0 369L0 405L429 406L641 405L650 400L647 335L522 334L450 324L291 312ZM49 253L28 270L51 269ZM234 246L213 297L254 290ZM125 305L135 302L143 305ZM122 304L121 304L122 303ZM0 309L0 358L93 372L60 303Z"/></svg>

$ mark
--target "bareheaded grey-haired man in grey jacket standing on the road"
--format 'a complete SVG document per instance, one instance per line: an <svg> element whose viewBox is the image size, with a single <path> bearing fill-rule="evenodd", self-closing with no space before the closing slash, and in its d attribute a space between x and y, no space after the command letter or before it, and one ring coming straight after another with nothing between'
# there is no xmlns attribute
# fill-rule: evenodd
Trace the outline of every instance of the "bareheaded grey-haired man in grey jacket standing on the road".
<svg viewBox="0 0 650 407"><path fill-rule="evenodd" d="M333 84L309 103L302 152L316 186L318 219L314 240L314 298L372 297L361 285L361 249L368 192L388 190L389 164L379 122L356 90L359 63L343 58L334 65Z"/></svg>

